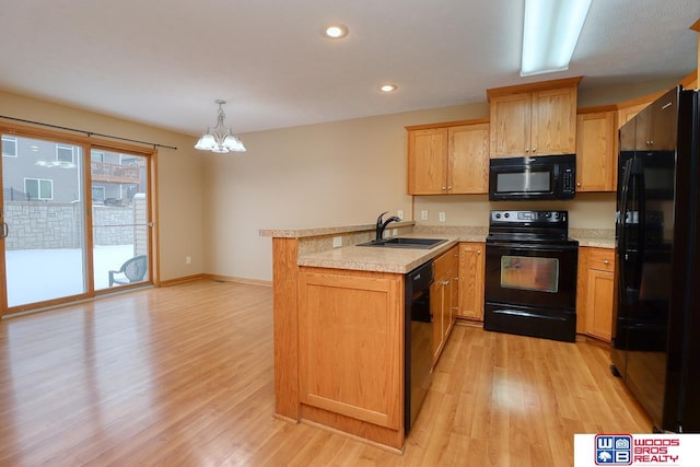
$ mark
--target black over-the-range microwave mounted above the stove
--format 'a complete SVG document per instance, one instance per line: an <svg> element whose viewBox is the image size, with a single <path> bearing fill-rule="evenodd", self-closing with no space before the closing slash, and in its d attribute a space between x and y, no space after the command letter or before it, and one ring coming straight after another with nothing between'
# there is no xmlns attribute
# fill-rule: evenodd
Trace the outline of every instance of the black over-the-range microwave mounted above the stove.
<svg viewBox="0 0 700 467"><path fill-rule="evenodd" d="M491 159L489 200L571 199L575 179L575 154Z"/></svg>

